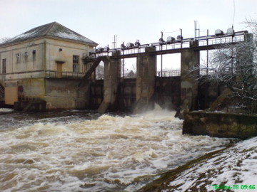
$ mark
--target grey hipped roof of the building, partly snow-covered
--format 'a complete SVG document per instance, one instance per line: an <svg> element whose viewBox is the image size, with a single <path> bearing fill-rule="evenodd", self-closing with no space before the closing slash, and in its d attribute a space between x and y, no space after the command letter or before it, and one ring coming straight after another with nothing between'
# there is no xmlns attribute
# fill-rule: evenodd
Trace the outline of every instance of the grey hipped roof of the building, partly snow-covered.
<svg viewBox="0 0 257 192"><path fill-rule="evenodd" d="M19 36L11 38L9 41L6 41L1 45L9 43L19 43L20 41L26 41L31 38L40 38L44 36L64 38L71 41L79 41L81 43L87 43L91 46L98 45L96 42L91 41L89 38L81 36L79 33L76 33L75 31L72 31L71 29L62 26L60 23L57 22L48 23L43 26L32 28L31 30L26 31Z"/></svg>

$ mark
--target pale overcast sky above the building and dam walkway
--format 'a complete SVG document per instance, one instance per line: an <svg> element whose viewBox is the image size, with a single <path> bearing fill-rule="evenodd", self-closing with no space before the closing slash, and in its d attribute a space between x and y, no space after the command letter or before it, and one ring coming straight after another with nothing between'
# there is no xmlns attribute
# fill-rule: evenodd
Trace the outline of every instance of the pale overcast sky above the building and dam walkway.
<svg viewBox="0 0 257 192"><path fill-rule="evenodd" d="M141 44L167 36L194 37L194 21L201 36L217 28L245 30L245 18L257 18L256 0L0 0L0 39L56 21L106 46L117 36ZM233 19L234 18L234 19Z"/></svg>

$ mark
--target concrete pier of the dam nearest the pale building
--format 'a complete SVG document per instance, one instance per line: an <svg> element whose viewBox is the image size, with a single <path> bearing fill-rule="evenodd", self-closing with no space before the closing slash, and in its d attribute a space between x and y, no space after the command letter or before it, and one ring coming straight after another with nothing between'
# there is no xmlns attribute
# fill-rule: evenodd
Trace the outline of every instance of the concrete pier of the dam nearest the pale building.
<svg viewBox="0 0 257 192"><path fill-rule="evenodd" d="M114 55L120 55L119 51ZM121 80L121 60L111 59L104 61L104 100L101 102L99 113L116 110L118 85Z"/></svg>

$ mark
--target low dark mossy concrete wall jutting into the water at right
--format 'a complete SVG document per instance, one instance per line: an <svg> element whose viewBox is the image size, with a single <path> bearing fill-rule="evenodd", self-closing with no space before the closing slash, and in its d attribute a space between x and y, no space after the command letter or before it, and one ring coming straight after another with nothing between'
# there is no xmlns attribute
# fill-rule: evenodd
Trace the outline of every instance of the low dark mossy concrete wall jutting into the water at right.
<svg viewBox="0 0 257 192"><path fill-rule="evenodd" d="M247 139L257 136L257 116L216 112L185 112L183 134Z"/></svg>

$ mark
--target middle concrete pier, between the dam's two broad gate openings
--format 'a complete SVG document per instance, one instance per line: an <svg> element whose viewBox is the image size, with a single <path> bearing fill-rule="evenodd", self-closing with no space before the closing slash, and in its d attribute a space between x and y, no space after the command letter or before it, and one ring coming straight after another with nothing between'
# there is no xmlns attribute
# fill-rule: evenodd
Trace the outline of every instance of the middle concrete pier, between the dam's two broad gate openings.
<svg viewBox="0 0 257 192"><path fill-rule="evenodd" d="M146 53L156 51L147 47ZM153 93L156 77L157 57L155 54L139 55L136 58L136 108L134 112L143 112L154 106Z"/></svg>

